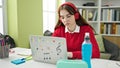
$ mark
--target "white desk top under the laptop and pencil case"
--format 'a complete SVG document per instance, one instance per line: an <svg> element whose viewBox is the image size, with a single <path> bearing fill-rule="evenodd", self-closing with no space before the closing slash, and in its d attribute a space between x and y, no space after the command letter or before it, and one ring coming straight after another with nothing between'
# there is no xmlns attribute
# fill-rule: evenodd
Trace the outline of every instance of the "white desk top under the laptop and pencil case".
<svg viewBox="0 0 120 68"><path fill-rule="evenodd" d="M34 60L29 60L19 65L12 64L11 60L26 57L18 54L31 54L30 49L14 48L13 50L15 53L10 53L9 58L0 59L0 68L56 68L56 65L36 62ZM120 62L105 59L92 59L92 68L120 68Z"/></svg>

